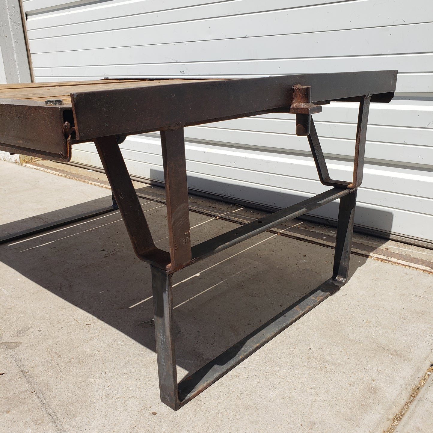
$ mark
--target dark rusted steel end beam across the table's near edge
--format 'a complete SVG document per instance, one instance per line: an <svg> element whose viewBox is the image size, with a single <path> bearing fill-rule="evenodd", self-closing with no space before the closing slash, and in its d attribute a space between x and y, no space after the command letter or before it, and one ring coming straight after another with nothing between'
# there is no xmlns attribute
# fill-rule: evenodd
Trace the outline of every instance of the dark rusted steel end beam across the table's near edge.
<svg viewBox="0 0 433 433"><path fill-rule="evenodd" d="M397 71L294 74L84 91L71 100L76 139L86 140L289 109L296 84L311 87L314 102L393 92L396 81Z"/></svg>

